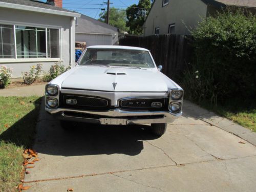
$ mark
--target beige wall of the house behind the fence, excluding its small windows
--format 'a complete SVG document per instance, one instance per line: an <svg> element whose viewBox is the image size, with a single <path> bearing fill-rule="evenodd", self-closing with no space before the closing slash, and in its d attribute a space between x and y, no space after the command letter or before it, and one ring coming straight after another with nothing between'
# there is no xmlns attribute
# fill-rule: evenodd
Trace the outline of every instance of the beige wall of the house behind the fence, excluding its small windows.
<svg viewBox="0 0 256 192"><path fill-rule="evenodd" d="M169 0L164 7L162 2L155 0L146 18L144 36L154 35L156 27L160 34L166 34L169 24L174 23L175 34L189 34L187 27L194 28L207 13L207 5L200 0Z"/></svg>

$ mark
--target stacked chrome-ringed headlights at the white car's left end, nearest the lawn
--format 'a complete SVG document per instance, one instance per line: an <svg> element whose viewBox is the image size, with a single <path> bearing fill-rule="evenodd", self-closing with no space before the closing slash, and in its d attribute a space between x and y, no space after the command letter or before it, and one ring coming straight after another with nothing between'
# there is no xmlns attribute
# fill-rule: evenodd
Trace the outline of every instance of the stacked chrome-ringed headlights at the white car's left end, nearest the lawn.
<svg viewBox="0 0 256 192"><path fill-rule="evenodd" d="M45 89L45 105L49 109L56 109L59 105L60 89L57 84L47 84ZM55 103L55 104L54 104Z"/></svg>

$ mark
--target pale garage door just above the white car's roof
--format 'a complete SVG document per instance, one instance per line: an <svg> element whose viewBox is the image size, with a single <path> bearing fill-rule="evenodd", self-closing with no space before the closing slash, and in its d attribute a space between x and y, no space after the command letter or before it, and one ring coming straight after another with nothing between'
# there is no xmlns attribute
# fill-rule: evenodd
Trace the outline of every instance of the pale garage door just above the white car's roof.
<svg viewBox="0 0 256 192"><path fill-rule="evenodd" d="M112 35L108 34L80 34L76 33L76 41L86 41L87 46L113 45Z"/></svg>

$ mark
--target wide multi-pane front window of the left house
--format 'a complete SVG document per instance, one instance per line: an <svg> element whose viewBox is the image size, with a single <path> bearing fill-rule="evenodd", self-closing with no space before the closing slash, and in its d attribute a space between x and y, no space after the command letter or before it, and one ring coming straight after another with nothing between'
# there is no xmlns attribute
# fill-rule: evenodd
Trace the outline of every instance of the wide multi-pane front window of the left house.
<svg viewBox="0 0 256 192"><path fill-rule="evenodd" d="M0 58L60 57L59 29L0 25L0 33Z"/></svg>

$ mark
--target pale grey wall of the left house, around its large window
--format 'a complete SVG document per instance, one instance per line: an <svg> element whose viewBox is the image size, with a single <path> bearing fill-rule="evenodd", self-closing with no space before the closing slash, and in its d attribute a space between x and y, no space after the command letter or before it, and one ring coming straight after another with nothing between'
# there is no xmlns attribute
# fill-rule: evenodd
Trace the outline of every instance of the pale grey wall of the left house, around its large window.
<svg viewBox="0 0 256 192"><path fill-rule="evenodd" d="M45 13L38 13L32 11L22 11L8 8L0 8L0 24L10 25L24 25L32 27L49 27L60 29L60 58L28 58L28 59L3 59L0 58L0 67L5 65L13 68L13 78L22 77L22 72L30 70L31 66L36 65L38 62L42 63L42 69L46 72L49 71L50 66L54 65L56 61L62 61L65 66L70 63L75 63L75 57L70 58L71 46L70 40L74 42L75 27L70 34L72 17L52 15ZM73 38L70 38L73 37ZM75 46L74 46L75 47ZM73 51L74 52L74 51Z"/></svg>

